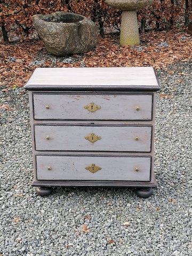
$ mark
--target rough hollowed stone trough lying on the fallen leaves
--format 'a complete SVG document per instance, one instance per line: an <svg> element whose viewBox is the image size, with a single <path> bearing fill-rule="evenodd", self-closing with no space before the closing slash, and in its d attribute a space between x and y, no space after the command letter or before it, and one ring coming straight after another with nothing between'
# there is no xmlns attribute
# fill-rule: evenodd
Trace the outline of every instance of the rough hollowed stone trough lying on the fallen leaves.
<svg viewBox="0 0 192 256"><path fill-rule="evenodd" d="M58 57L88 52L98 42L98 27L90 19L69 12L36 14L35 29L46 50Z"/></svg>

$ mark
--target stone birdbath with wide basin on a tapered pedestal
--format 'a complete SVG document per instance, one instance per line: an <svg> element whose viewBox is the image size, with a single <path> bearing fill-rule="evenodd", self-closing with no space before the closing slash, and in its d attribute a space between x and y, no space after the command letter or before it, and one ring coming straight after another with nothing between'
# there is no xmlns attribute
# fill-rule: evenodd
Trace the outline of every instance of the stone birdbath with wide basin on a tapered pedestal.
<svg viewBox="0 0 192 256"><path fill-rule="evenodd" d="M106 0L114 9L122 10L120 45L139 45L137 10L154 0Z"/></svg>

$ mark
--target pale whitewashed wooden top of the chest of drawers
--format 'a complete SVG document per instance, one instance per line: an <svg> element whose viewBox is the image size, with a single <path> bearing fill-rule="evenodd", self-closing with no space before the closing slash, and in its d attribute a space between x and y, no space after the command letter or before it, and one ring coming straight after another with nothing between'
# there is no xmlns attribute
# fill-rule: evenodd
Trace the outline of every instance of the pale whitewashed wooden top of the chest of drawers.
<svg viewBox="0 0 192 256"><path fill-rule="evenodd" d="M36 68L27 90L115 90L157 91L152 67L121 68Z"/></svg>

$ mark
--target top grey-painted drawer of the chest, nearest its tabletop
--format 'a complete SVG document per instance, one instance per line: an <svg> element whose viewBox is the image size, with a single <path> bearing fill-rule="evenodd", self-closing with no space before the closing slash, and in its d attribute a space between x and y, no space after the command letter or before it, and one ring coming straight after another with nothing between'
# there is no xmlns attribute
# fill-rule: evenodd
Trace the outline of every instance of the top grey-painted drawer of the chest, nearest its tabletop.
<svg viewBox="0 0 192 256"><path fill-rule="evenodd" d="M33 104L34 119L150 121L153 93L33 93Z"/></svg>

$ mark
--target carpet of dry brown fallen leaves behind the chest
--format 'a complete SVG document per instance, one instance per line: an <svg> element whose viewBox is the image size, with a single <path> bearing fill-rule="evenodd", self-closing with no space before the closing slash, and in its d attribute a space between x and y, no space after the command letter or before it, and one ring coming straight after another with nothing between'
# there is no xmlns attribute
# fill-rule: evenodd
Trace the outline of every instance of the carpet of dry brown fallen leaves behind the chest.
<svg viewBox="0 0 192 256"><path fill-rule="evenodd" d="M63 63L58 58L53 63L46 55L41 41L26 41L23 43L1 44L0 86L17 89L28 81L37 65L31 65L34 58L39 58L39 52L45 53L44 64L41 67L138 67L152 66L155 69L166 69L175 61L190 61L192 49L191 36L184 31L150 31L140 35L141 45L137 47L119 46L119 36L99 37L99 42L93 51L80 56L74 55L73 63ZM159 46L165 44L165 46ZM166 46L167 45L167 46ZM14 61L11 60L14 58ZM180 73L178 75L186 75ZM6 92L6 91L4 91Z"/></svg>

